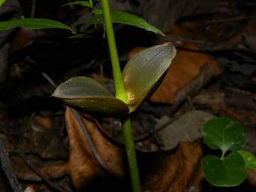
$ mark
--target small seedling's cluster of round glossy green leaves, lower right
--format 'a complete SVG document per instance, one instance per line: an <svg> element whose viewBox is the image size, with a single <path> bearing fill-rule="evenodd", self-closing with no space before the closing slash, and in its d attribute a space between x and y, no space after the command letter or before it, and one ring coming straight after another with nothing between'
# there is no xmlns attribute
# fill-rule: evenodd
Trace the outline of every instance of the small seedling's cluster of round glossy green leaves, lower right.
<svg viewBox="0 0 256 192"><path fill-rule="evenodd" d="M246 168L256 168L256 158L245 147L242 125L228 117L206 122L203 127L204 142L210 149L220 149L221 158L209 155L203 159L206 180L214 186L238 186L245 180ZM226 152L231 151L228 156Z"/></svg>

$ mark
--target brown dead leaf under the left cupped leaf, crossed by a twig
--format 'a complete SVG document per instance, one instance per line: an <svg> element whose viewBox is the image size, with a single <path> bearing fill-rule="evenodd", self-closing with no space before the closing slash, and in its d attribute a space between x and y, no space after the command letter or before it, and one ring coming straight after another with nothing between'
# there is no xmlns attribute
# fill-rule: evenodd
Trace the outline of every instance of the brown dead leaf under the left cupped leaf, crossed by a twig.
<svg viewBox="0 0 256 192"><path fill-rule="evenodd" d="M102 169L95 156L92 154L85 135L82 132L80 124L70 108L67 107L66 127L68 130L68 138L70 142L69 168L70 176L73 184L78 191L90 188L93 185L102 187L102 181L110 178L110 175ZM117 177L124 176L123 150L115 146L97 128L94 122L89 119L82 118L82 122L87 127L92 142L100 154L100 157L112 175Z"/></svg>

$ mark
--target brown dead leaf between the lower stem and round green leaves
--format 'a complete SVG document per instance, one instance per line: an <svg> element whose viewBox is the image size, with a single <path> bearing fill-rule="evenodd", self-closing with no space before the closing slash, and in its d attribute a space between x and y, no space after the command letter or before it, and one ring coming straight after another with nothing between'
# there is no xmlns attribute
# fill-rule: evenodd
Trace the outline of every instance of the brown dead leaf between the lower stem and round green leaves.
<svg viewBox="0 0 256 192"><path fill-rule="evenodd" d="M142 180L144 191L183 192L194 186L199 192L201 158L201 144L198 142L182 142L174 154L165 152L147 157L148 169Z"/></svg>

